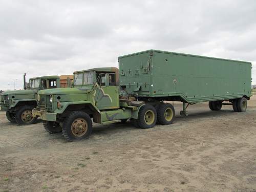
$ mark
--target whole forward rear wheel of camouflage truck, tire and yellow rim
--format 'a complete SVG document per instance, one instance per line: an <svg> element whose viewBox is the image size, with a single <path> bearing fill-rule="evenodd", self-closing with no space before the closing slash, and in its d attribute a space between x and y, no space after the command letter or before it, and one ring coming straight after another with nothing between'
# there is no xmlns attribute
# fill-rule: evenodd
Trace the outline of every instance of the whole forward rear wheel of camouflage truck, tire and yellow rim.
<svg viewBox="0 0 256 192"><path fill-rule="evenodd" d="M150 104L141 106L137 121L142 129L148 129L155 126L157 121L157 111L154 106Z"/></svg>

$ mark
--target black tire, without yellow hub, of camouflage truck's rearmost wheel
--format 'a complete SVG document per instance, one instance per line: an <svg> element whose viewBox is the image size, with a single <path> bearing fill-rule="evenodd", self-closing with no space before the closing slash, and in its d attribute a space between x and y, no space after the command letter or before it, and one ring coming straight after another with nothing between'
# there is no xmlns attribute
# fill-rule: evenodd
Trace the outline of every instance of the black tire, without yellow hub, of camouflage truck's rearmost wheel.
<svg viewBox="0 0 256 192"><path fill-rule="evenodd" d="M165 118L165 111L166 109L169 108L172 110L172 119L170 119L169 121L166 120ZM174 119L175 119L175 110L174 110L174 106L170 103L161 103L159 105L158 111L157 111L157 119L158 122L160 124L166 125L166 124L172 124Z"/></svg>

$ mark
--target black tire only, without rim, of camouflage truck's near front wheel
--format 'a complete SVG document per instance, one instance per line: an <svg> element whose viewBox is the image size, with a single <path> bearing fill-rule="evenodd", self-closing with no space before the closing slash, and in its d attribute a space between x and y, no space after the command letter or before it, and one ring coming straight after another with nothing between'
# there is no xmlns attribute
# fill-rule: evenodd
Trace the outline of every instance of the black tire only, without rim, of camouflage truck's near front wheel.
<svg viewBox="0 0 256 192"><path fill-rule="evenodd" d="M83 118L87 122L87 125L88 125L87 132L80 137L75 136L71 130L71 125L72 125L73 121L76 120L77 118ZM92 127L93 127L92 119L87 113L84 113L82 111L73 111L65 119L65 121L63 123L63 127L62 127L62 132L63 132L63 136L65 137L65 139L67 141L77 141L77 140L81 140L81 139L88 139L92 133Z"/></svg>

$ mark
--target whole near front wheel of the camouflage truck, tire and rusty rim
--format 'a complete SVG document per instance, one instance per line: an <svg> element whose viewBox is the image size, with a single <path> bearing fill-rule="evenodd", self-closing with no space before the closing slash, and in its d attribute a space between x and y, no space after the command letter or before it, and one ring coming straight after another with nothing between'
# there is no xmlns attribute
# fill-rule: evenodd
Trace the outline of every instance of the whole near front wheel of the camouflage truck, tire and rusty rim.
<svg viewBox="0 0 256 192"><path fill-rule="evenodd" d="M92 133L92 119L82 111L71 112L63 123L62 132L68 141L88 139Z"/></svg>

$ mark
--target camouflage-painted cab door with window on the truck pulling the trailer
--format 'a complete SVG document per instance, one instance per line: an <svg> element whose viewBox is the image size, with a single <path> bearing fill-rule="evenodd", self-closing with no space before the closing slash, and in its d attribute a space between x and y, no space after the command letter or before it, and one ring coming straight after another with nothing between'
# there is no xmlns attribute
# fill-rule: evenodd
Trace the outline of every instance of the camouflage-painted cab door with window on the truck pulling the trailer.
<svg viewBox="0 0 256 192"><path fill-rule="evenodd" d="M119 86L116 85L116 73L96 73L97 88L94 95L99 110L119 108Z"/></svg>

